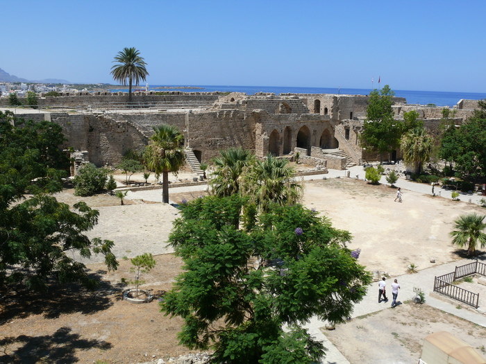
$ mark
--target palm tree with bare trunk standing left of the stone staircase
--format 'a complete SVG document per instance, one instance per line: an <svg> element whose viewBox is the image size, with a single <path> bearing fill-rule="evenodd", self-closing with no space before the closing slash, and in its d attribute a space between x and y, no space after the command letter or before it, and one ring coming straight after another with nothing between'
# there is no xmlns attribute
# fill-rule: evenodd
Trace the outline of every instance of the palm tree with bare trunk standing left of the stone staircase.
<svg viewBox="0 0 486 364"><path fill-rule="evenodd" d="M156 179L162 175L162 202L169 203L169 172L177 171L185 163L182 147L184 136L174 125L161 124L153 127L155 134L150 137L144 158Z"/></svg>

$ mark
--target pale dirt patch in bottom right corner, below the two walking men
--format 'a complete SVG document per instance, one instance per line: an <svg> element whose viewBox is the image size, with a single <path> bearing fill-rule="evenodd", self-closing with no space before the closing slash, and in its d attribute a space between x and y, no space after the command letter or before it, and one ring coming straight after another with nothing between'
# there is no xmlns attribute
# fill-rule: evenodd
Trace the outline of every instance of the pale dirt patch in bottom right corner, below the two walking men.
<svg viewBox="0 0 486 364"><path fill-rule="evenodd" d="M486 328L427 304L405 302L323 330L351 364L416 364L424 338L437 331L449 331L486 354Z"/></svg>

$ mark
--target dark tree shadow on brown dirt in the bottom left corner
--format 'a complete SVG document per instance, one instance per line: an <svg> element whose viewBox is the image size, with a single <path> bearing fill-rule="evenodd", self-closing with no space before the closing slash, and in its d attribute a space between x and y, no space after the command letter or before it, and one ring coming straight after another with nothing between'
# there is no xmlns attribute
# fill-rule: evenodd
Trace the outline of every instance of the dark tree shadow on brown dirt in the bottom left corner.
<svg viewBox="0 0 486 364"><path fill-rule="evenodd" d="M6 354L4 347L15 346L12 354ZM99 340L83 339L77 333L71 333L68 327L61 327L52 335L26 336L20 335L0 339L0 363L78 363L74 355L76 350L97 347L102 350L111 349L112 345Z"/></svg>

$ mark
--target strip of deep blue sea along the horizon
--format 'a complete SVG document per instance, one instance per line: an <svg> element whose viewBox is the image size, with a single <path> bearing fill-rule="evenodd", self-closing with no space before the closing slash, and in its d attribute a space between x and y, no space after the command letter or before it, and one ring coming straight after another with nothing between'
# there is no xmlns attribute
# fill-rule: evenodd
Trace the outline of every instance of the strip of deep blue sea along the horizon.
<svg viewBox="0 0 486 364"><path fill-rule="evenodd" d="M165 87L158 89L157 87ZM167 87L167 88L166 88ZM170 88L169 88L170 87ZM197 87L189 89L187 87ZM133 89L143 89L140 85ZM110 89L111 92L128 92L127 89ZM182 91L182 92L244 92L247 95L258 94L259 92L269 92L279 94L342 94L342 95L369 95L371 89L344 89L332 87L274 87L274 86L166 86L166 85L149 85L149 91ZM407 91L396 89L393 90L395 96L404 97L408 104L449 106L456 105L460 100L484 100L486 93L480 94L475 92L438 92L438 91Z"/></svg>

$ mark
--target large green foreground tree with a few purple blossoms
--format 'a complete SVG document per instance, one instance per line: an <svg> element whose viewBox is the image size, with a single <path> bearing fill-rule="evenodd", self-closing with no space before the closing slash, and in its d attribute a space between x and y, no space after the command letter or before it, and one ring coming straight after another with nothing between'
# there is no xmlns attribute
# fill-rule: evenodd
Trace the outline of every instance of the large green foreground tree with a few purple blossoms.
<svg viewBox="0 0 486 364"><path fill-rule="evenodd" d="M162 311L185 320L182 345L211 347L215 363L319 361L324 347L299 325L342 322L371 282L346 248L351 235L301 205L276 205L239 229L245 203L235 194L185 204L169 237L185 272Z"/></svg>

